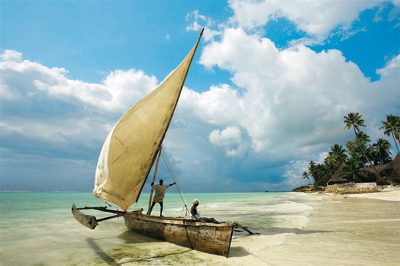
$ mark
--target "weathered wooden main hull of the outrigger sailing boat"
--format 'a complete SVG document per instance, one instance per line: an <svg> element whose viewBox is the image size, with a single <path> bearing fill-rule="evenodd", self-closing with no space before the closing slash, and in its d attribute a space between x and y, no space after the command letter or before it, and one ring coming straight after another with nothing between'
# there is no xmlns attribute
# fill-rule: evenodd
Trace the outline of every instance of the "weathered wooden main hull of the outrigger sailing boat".
<svg viewBox="0 0 400 266"><path fill-rule="evenodd" d="M184 218L136 213L123 216L126 227L139 234L172 244L228 257L233 224L211 224Z"/></svg>

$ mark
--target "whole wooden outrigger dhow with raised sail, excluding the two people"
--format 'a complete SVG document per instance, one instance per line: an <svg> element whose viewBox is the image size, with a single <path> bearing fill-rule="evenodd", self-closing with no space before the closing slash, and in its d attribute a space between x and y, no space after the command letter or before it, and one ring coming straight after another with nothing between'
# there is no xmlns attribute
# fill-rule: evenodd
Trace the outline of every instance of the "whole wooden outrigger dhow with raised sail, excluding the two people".
<svg viewBox="0 0 400 266"><path fill-rule="evenodd" d="M229 254L234 228L241 228L253 234L235 222L212 224L185 217L151 216L142 214L142 209L128 211L129 207L137 202L156 161L152 178L154 183L159 158L162 155L162 142L203 30L183 61L156 88L122 115L111 129L98 158L93 194L114 203L119 208L118 210L110 210L107 207L76 208L72 205L72 214L80 224L94 229L98 222L122 216L126 227L139 234L225 257ZM176 182L174 175L172 178ZM178 183L176 184L185 203ZM151 197L152 190L148 210ZM185 207L188 212L186 203ZM88 209L113 215L96 219L80 212Z"/></svg>

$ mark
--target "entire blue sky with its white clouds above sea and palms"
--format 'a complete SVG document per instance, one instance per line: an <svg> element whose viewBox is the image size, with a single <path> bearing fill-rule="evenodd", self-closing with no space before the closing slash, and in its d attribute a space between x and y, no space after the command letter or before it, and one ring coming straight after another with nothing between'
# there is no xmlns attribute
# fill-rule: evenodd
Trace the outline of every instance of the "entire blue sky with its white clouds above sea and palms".
<svg viewBox="0 0 400 266"><path fill-rule="evenodd" d="M1 190L90 191L112 125L201 27L164 141L183 191L304 185L353 138L348 112L394 146L377 129L400 114L398 0L0 4Z"/></svg>

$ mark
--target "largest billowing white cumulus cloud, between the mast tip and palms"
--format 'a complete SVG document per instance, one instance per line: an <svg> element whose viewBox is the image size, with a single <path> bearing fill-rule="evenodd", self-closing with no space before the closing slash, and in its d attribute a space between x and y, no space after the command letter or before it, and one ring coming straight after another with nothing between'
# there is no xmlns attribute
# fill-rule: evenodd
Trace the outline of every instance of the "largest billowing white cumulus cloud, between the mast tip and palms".
<svg viewBox="0 0 400 266"><path fill-rule="evenodd" d="M371 82L339 50L315 52L303 45L278 50L267 38L229 28L204 47L200 63L229 71L243 90L239 95L220 85L201 94L184 91L182 105L190 103L209 123L243 128L256 152L317 152L348 139L343 130L348 112L360 112L372 126L399 106L398 56Z"/></svg>

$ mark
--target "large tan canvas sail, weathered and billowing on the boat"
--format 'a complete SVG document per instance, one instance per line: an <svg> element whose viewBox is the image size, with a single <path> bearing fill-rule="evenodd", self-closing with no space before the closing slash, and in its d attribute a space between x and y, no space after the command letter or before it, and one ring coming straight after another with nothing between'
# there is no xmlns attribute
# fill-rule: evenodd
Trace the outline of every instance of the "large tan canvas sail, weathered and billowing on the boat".
<svg viewBox="0 0 400 266"><path fill-rule="evenodd" d="M94 196L123 210L137 201L169 126L198 41L178 67L112 128L98 158Z"/></svg>

